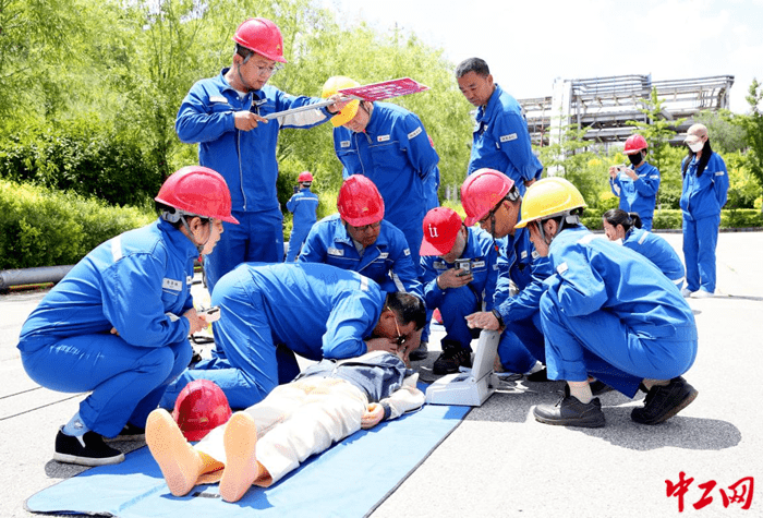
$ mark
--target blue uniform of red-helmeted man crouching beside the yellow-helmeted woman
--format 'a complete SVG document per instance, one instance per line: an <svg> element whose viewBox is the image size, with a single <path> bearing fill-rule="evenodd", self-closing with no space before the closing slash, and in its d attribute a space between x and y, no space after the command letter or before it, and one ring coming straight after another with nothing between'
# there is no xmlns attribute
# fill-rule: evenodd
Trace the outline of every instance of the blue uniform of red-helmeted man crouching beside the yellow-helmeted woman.
<svg viewBox="0 0 763 518"><path fill-rule="evenodd" d="M514 229L514 234L500 243L495 310L506 329L498 342L498 357L507 372L525 374L536 361L545 363L540 304L546 289L543 280L552 273L550 263L537 255L526 228ZM512 284L519 290L513 296Z"/></svg>

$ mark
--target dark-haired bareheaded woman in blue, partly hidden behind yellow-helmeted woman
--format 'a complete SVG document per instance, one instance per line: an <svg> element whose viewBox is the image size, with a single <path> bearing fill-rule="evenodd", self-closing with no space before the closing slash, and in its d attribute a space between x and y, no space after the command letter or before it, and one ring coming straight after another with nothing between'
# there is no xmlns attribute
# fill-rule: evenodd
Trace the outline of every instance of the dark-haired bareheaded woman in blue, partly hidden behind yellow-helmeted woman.
<svg viewBox="0 0 763 518"><path fill-rule="evenodd" d="M683 286L683 263L673 250L673 246L656 233L641 228L641 218L637 213L626 213L621 208L613 208L602 216L604 233L609 241L621 240L622 245L639 252L673 280L678 289Z"/></svg>

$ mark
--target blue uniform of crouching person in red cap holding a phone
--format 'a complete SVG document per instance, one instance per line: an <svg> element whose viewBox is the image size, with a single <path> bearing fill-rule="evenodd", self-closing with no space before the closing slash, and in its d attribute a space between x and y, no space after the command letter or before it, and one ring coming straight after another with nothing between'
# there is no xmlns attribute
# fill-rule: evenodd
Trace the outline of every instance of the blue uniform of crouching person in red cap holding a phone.
<svg viewBox="0 0 763 518"><path fill-rule="evenodd" d="M460 258L470 260L470 268L474 279L460 288L441 289L437 286L437 277L456 265L446 263L436 255L421 257L422 282L424 284L424 302L426 309L434 311L439 309L445 326L443 341L458 341L464 349L471 350L472 330L467 325L467 315L493 309L493 294L498 279L498 252L493 237L475 227L469 227L467 246ZM428 327L426 336L422 334L422 341L428 341Z"/></svg>

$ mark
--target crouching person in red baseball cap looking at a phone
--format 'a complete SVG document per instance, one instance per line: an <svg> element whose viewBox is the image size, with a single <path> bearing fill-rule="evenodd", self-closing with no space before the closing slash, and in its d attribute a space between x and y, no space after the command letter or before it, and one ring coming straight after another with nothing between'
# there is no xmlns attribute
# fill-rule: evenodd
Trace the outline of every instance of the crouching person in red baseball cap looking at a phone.
<svg viewBox="0 0 763 518"><path fill-rule="evenodd" d="M435 374L471 366L473 336L465 317L482 311L483 303L485 311L493 310L497 258L493 237L484 230L465 227L456 210L437 207L426 214L421 244L424 301L427 310L439 309L446 332L443 353L433 364ZM426 328L422 344L425 338L428 338ZM422 358L416 354L411 359Z"/></svg>

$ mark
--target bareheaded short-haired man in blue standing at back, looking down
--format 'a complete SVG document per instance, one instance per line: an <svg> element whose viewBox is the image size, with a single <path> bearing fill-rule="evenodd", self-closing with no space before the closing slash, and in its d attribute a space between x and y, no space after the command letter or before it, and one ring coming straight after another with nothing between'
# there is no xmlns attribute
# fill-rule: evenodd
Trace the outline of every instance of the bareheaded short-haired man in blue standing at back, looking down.
<svg viewBox="0 0 763 518"><path fill-rule="evenodd" d="M472 156L467 172L483 168L502 172L520 195L541 178L543 166L533 154L528 121L517 99L493 82L487 63L469 58L456 68L459 89L476 106Z"/></svg>

